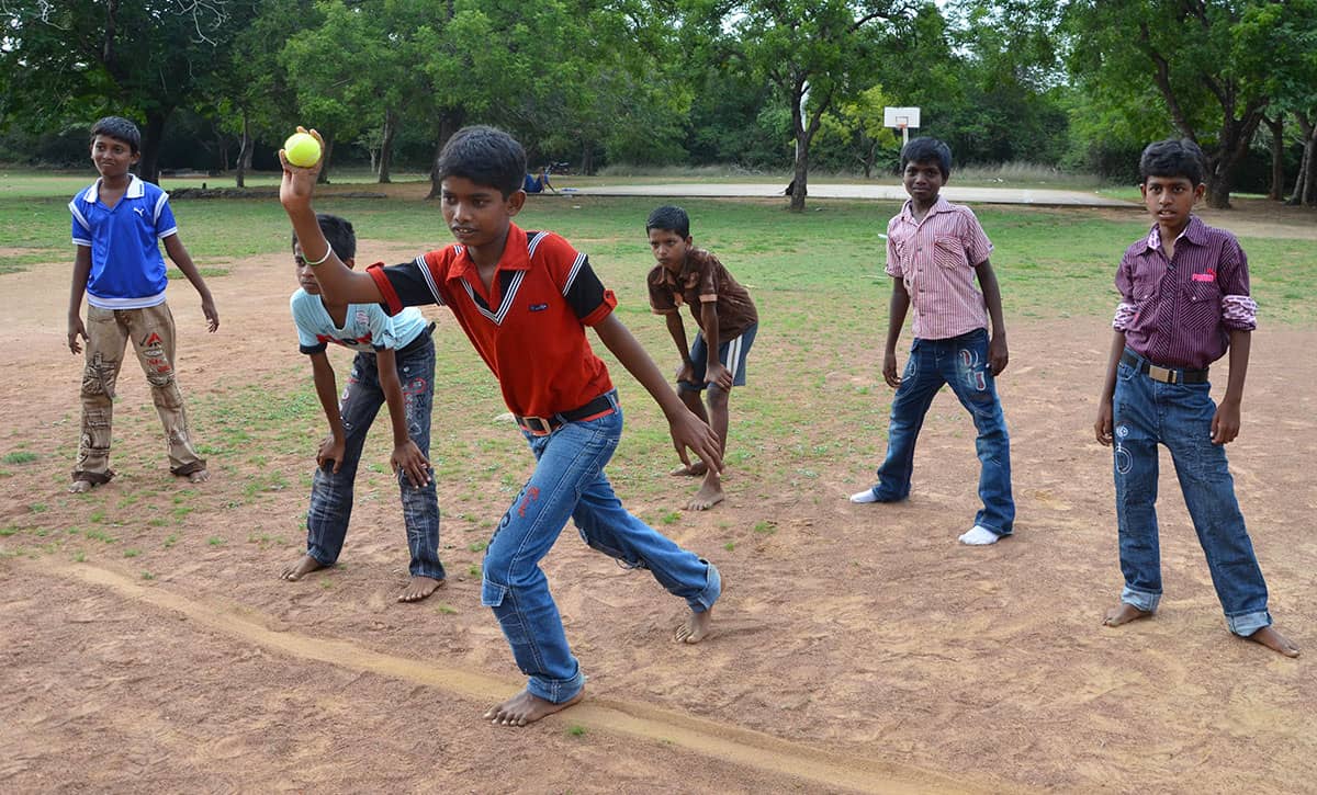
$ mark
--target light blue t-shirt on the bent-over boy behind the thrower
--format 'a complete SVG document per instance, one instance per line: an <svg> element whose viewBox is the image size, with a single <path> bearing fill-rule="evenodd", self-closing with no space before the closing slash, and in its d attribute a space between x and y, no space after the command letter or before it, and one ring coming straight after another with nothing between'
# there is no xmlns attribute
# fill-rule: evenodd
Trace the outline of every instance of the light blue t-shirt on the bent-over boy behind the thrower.
<svg viewBox="0 0 1317 795"><path fill-rule="evenodd" d="M298 326L298 349L306 354L320 353L331 342L365 353L386 347L396 350L407 347L429 325L415 307L390 317L379 304L348 304L348 315L340 328L329 317L320 296L302 288L288 299L288 307Z"/></svg>

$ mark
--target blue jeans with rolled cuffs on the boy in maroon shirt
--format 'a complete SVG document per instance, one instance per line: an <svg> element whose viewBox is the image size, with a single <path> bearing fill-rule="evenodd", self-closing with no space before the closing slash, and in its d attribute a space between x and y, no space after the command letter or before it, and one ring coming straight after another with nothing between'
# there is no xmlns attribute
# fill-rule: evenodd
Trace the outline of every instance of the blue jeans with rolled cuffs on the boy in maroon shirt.
<svg viewBox="0 0 1317 795"><path fill-rule="evenodd" d="M1239 636L1270 625L1267 583L1239 513L1225 445L1212 444L1217 411L1212 386L1160 383L1121 362L1112 409L1115 516L1125 575L1121 602L1152 612L1162 600L1156 525L1160 442L1171 451L1226 625Z"/></svg>

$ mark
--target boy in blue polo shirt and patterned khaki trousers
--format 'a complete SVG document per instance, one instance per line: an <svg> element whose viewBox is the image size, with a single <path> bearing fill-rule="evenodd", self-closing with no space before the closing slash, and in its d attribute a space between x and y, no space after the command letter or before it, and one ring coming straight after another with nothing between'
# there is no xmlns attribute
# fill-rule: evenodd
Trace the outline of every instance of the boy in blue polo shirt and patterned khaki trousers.
<svg viewBox="0 0 1317 795"><path fill-rule="evenodd" d="M68 350L87 365L82 383L82 434L78 463L68 491L82 494L108 483L111 420L115 383L132 340L146 372L155 412L165 425L170 471L190 483L209 478L187 428L183 394L174 372L174 315L165 303L169 286L161 242L170 259L202 296L207 328L220 328L215 299L178 237L169 193L138 179L132 167L141 159L142 136L132 121L107 116L91 130L91 161L100 178L68 203L75 246L72 288L68 294ZM82 320L87 296L87 324Z"/></svg>

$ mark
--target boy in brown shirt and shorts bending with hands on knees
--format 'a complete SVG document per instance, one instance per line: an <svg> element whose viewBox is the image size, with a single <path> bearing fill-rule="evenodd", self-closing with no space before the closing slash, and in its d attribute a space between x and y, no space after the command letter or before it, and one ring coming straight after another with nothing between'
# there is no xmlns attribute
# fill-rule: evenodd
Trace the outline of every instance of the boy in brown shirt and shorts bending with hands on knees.
<svg viewBox="0 0 1317 795"><path fill-rule="evenodd" d="M665 205L649 213L645 221L649 249L658 265L649 271L649 307L668 319L668 333L677 344L681 366L677 369L677 394L686 408L709 423L727 455L727 399L732 387L745 386L745 358L759 330L759 313L749 292L736 283L723 263L690 237L690 217L680 207ZM690 307L699 332L686 346L686 328L681 322L681 305ZM699 401L699 392L709 390L709 412ZM723 479L702 461L680 466L673 475L703 475L699 492L686 505L706 511L723 501Z"/></svg>

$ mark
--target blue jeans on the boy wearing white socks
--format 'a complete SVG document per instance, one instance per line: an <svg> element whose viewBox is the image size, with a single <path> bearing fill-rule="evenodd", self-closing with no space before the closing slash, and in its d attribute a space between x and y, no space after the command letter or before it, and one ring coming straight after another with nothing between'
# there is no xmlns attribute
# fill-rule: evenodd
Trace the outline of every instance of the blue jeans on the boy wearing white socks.
<svg viewBox="0 0 1317 795"><path fill-rule="evenodd" d="M873 496L881 503L892 503L910 495L914 444L942 384L951 386L979 430L975 450L981 467L979 499L984 507L975 515L975 524L1009 536L1015 523L1015 500L1010 495L1010 436L988 365L986 329L947 340L915 338L901 387L892 401L888 457L878 467Z"/></svg>

